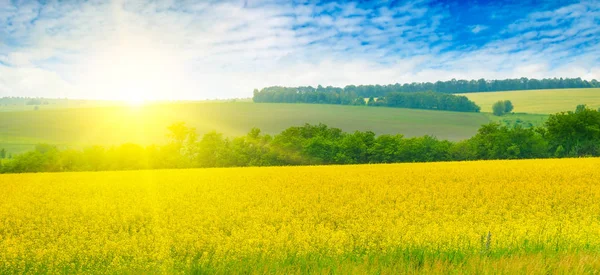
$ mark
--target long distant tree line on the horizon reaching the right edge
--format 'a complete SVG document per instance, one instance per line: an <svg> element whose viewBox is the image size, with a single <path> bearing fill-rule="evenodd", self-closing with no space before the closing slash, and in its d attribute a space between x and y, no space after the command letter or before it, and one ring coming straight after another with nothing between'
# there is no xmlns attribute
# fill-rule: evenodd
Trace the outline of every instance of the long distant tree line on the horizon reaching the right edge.
<svg viewBox="0 0 600 275"><path fill-rule="evenodd" d="M348 85L344 88L323 87L267 87L260 91L254 91L256 102L311 102L311 103L331 103L334 102L337 94L340 102L347 100L352 102L357 97L377 98L385 97L392 92L438 92L438 93L474 93L474 92L495 92L495 91L514 91L514 90L538 90L538 89L564 89L564 88L600 88L600 82L597 80L582 80L581 78L544 78L529 79L526 77L504 79L504 80L456 80L432 82L413 82L404 84L390 85ZM288 93L308 94L306 98L298 97L293 101ZM349 101L348 99L349 98ZM344 103L336 103L344 104Z"/></svg>

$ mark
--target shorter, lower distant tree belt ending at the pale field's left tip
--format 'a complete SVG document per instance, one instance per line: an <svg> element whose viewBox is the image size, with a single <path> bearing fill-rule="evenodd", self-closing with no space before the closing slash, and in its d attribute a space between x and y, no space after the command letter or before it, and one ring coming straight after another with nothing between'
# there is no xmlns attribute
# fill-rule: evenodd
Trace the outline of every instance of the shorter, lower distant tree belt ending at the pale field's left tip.
<svg viewBox="0 0 600 275"><path fill-rule="evenodd" d="M465 96L443 94L435 92L390 92L381 97L357 96L354 92L346 92L341 88L330 91L311 91L302 87L297 88L269 87L261 91L254 91L254 102L257 103L317 103L341 105L368 105L398 108L414 108L428 110L447 110L457 112L479 112L481 109Z"/></svg>

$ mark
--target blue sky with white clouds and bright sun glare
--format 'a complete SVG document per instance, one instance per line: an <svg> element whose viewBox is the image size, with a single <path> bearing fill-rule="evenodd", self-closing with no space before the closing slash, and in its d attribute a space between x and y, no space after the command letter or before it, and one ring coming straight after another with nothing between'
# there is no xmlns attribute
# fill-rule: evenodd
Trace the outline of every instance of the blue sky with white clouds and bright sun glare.
<svg viewBox="0 0 600 275"><path fill-rule="evenodd" d="M0 96L600 79L600 1L0 0Z"/></svg>

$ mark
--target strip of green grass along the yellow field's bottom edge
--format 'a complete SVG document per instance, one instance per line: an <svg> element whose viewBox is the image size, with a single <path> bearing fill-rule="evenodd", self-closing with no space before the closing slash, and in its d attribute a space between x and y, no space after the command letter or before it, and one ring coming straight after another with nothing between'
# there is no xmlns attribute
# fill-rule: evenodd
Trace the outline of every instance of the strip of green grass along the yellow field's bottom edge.
<svg viewBox="0 0 600 275"><path fill-rule="evenodd" d="M81 259L63 266L61 272L115 274L596 274L600 254L594 249L559 251L501 250L492 253L474 251L432 251L398 248L389 252L346 253L337 256L320 254L288 255L271 258L248 256L236 261L220 261L211 256L184 257L170 268L149 262L144 270L131 269L128 259L120 264L99 259ZM167 264L165 264L167 265ZM0 263L3 274L52 273L51 262L25 261L22 270Z"/></svg>

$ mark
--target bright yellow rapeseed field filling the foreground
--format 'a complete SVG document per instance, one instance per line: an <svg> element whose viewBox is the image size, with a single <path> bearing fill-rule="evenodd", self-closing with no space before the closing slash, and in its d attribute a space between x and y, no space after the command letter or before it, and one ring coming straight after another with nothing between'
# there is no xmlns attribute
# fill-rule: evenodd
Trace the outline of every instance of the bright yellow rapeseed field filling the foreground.
<svg viewBox="0 0 600 275"><path fill-rule="evenodd" d="M594 273L600 159L0 175L0 273Z"/></svg>

